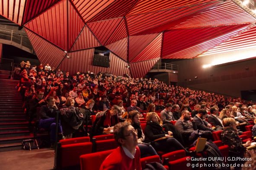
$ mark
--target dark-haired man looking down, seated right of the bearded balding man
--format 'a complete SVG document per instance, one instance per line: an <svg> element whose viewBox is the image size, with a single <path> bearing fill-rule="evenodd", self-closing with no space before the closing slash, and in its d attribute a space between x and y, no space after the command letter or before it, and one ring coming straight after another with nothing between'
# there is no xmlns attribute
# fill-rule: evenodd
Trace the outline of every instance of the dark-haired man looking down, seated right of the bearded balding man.
<svg viewBox="0 0 256 170"><path fill-rule="evenodd" d="M211 129L211 124L206 122L204 119L207 115L207 112L205 109L198 110L198 113L194 116L194 121L197 126L197 129L199 130L208 130L211 132L214 132L215 130Z"/></svg>

